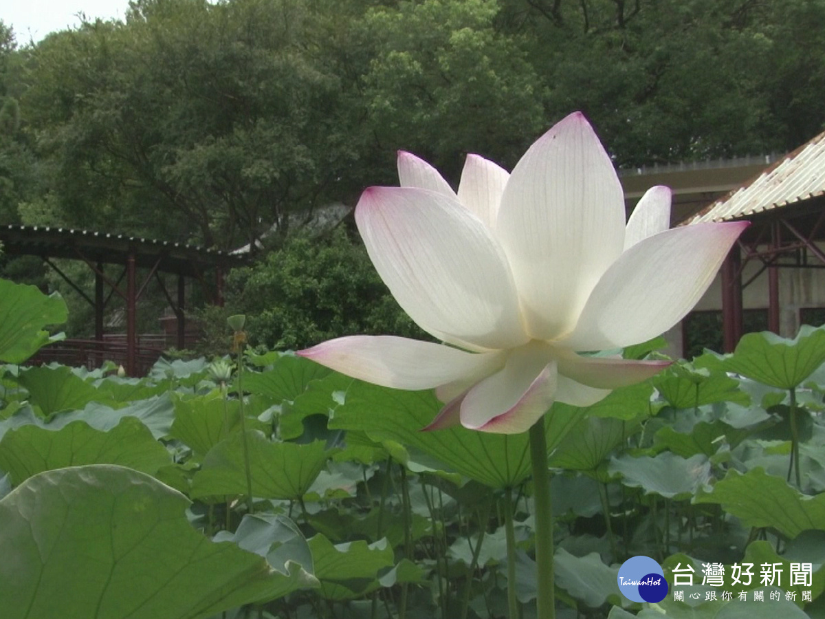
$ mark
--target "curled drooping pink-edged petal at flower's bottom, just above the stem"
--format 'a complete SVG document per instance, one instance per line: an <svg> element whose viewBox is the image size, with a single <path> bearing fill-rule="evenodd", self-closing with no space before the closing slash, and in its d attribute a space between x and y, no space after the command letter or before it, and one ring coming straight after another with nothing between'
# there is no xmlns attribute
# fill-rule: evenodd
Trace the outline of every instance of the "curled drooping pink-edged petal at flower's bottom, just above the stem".
<svg viewBox="0 0 825 619"><path fill-rule="evenodd" d="M464 396L461 424L483 432L524 432L553 404L557 376L556 362L543 345L516 349L502 370Z"/></svg>

